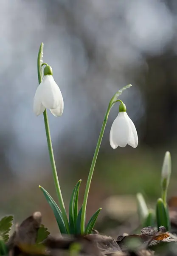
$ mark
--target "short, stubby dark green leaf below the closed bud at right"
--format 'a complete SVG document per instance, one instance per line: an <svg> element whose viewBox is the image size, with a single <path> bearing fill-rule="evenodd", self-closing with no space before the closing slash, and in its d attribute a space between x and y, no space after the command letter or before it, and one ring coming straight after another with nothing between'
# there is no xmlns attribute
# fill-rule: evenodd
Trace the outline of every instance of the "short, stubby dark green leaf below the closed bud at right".
<svg viewBox="0 0 177 256"><path fill-rule="evenodd" d="M157 227L164 226L167 231L169 231L169 214L168 209L166 208L162 198L157 200L156 205L156 219L157 219Z"/></svg>

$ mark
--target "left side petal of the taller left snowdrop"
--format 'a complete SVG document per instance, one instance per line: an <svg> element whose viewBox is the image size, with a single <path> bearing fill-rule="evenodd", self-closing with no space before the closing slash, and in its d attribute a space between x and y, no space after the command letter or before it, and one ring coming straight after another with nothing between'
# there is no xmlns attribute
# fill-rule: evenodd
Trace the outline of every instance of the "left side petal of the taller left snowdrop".
<svg viewBox="0 0 177 256"><path fill-rule="evenodd" d="M42 84L39 84L39 86L37 87L36 93L34 95L34 103L33 103L33 110L37 116L39 116L42 112L45 111L45 107L42 105L42 102L41 102L41 94L42 94Z"/></svg>

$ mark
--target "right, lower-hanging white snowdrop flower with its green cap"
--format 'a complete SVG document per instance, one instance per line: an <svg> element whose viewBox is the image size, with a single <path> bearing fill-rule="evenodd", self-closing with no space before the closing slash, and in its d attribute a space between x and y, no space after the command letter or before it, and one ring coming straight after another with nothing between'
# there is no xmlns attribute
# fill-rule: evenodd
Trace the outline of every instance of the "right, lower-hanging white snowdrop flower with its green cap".
<svg viewBox="0 0 177 256"><path fill-rule="evenodd" d="M127 144L136 148L138 135L134 123L126 113L126 105L119 105L119 113L114 120L110 131L110 145L112 148L125 147Z"/></svg>

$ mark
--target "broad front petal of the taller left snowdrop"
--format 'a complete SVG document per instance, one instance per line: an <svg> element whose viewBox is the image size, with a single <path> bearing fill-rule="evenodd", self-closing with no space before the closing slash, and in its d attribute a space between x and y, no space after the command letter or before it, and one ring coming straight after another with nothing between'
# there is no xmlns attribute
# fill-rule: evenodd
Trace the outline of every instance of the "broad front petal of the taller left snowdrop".
<svg viewBox="0 0 177 256"><path fill-rule="evenodd" d="M55 109L58 108L63 100L62 93L56 84L53 76L47 75L42 79L43 90L42 90L42 105L45 108Z"/></svg>

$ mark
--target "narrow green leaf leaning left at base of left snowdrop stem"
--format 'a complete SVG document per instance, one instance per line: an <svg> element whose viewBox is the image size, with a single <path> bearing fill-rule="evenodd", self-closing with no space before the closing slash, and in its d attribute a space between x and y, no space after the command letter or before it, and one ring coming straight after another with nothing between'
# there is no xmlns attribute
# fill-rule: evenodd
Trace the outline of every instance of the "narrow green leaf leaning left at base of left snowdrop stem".
<svg viewBox="0 0 177 256"><path fill-rule="evenodd" d="M60 211L58 205L53 200L51 195L49 195L49 193L44 188L42 188L42 186L39 186L39 188L44 193L44 196L47 199L48 204L51 206L51 208L53 210L53 213L55 215L55 218L56 218L56 221L57 221L57 224L59 226L59 230L60 230L61 234L67 234L67 231L66 231L66 228L65 228L65 223L64 223L63 218L62 218L62 212Z"/></svg>

